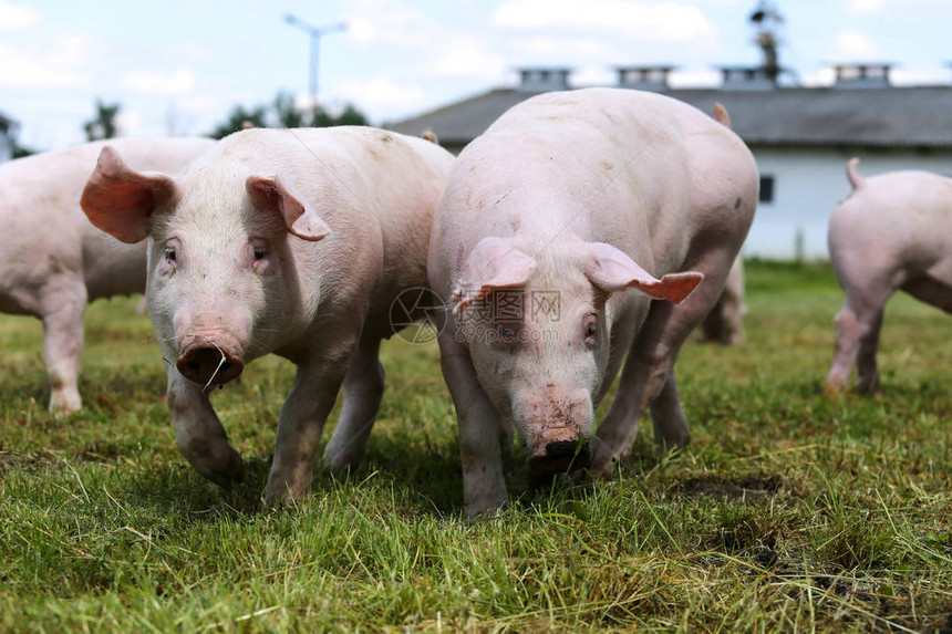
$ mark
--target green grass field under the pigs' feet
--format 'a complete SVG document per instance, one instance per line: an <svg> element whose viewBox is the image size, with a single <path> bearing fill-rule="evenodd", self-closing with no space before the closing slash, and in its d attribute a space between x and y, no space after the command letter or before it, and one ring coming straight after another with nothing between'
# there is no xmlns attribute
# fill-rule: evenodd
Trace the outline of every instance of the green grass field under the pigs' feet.
<svg viewBox="0 0 952 634"><path fill-rule="evenodd" d="M520 502L472 521L435 346L385 345L364 468L276 511L290 364L216 394L248 465L224 492L175 447L135 300L91 306L62 420L39 322L2 315L0 630L952 632L952 320L894 298L882 397L830 401L828 267L748 263L747 301L747 343L682 352L689 450L645 418L615 478L534 495L517 453Z"/></svg>

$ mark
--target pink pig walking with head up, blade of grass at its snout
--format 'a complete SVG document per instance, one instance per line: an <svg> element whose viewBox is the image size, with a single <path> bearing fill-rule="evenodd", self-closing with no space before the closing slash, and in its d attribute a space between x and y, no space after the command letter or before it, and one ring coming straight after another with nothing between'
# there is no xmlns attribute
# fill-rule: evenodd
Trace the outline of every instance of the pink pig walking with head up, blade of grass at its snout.
<svg viewBox="0 0 952 634"><path fill-rule="evenodd" d="M83 210L117 240L147 240L168 410L199 474L224 488L241 480L208 392L268 353L293 362L297 377L265 500L310 491L341 385L323 464L359 462L383 393L389 310L402 291L426 287L433 209L452 163L427 141L359 126L245 129L175 177L135 172L103 148Z"/></svg>

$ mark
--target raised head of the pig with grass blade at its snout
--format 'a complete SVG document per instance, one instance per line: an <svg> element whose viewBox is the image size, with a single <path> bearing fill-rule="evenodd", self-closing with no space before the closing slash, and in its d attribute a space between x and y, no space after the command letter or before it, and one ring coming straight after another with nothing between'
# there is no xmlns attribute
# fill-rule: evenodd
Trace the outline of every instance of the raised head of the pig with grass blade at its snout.
<svg viewBox="0 0 952 634"><path fill-rule="evenodd" d="M294 278L287 270L288 241L330 233L279 176L214 165L177 177L137 173L110 146L81 206L117 240L149 239L147 295L156 333L182 375L201 385L237 377L276 330L268 313L290 308L279 300Z"/></svg>

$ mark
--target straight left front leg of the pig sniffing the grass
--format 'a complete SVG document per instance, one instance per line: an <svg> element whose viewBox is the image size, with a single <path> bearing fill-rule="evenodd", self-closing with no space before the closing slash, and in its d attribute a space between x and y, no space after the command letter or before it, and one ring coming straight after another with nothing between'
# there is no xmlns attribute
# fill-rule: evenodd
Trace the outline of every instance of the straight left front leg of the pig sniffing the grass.
<svg viewBox="0 0 952 634"><path fill-rule="evenodd" d="M469 352L456 341L456 329L449 321L439 335L439 362L456 406L463 508L466 517L472 518L505 507L508 493L503 475L498 415L479 385Z"/></svg>

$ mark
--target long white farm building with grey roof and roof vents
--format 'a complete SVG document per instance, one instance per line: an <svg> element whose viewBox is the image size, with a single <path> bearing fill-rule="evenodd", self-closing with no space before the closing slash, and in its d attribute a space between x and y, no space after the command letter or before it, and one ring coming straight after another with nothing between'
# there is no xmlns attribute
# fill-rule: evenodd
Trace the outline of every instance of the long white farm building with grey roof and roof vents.
<svg viewBox="0 0 952 634"><path fill-rule="evenodd" d="M827 257L826 227L849 193L846 162L860 172L952 174L952 85L894 86L889 64L842 64L828 87L783 86L766 66L722 67L718 87L672 87L671 66L619 67L617 86L649 90L712 112L723 104L760 168L760 205L747 257ZM506 110L532 95L571 90L571 70L527 67L513 87L490 90L386 127L432 129L458 153Z"/></svg>

